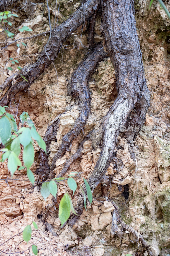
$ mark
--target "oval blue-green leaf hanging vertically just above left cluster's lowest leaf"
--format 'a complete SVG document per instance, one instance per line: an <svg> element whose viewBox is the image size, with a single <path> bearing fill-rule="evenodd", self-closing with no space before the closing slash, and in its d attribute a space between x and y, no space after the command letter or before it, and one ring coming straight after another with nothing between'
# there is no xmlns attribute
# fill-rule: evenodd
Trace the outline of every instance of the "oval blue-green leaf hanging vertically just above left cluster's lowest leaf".
<svg viewBox="0 0 170 256"><path fill-rule="evenodd" d="M30 142L23 150L23 161L27 169L31 167L34 161L34 148L32 142Z"/></svg>

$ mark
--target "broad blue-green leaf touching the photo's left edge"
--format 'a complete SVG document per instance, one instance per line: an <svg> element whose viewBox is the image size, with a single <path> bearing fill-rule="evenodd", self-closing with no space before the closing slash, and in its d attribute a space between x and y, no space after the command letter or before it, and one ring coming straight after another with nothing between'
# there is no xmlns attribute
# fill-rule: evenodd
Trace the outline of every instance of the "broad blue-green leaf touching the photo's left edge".
<svg viewBox="0 0 170 256"><path fill-rule="evenodd" d="M11 137L11 124L6 116L0 119L0 140L4 145Z"/></svg>

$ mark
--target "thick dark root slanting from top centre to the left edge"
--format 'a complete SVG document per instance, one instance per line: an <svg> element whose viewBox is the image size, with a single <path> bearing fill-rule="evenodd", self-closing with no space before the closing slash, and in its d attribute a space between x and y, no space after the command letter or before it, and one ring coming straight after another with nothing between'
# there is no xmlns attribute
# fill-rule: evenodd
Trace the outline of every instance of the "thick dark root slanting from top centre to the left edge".
<svg viewBox="0 0 170 256"><path fill-rule="evenodd" d="M57 57L60 47L66 38L96 12L99 2L99 0L87 0L68 20L55 28L54 34L51 36L50 43L46 49L50 60L48 60L45 51L42 51L35 63L24 67L22 69L22 75L25 76L28 82L23 81L21 76L17 74L15 79L17 81L19 79L19 82L12 85L12 78L9 77L8 83L5 83L5 86L9 88L4 97L0 100L1 106L7 105L8 102L15 97L17 92L27 90L33 81L49 67L51 61L55 60ZM4 88L4 85L2 85L2 87Z"/></svg>

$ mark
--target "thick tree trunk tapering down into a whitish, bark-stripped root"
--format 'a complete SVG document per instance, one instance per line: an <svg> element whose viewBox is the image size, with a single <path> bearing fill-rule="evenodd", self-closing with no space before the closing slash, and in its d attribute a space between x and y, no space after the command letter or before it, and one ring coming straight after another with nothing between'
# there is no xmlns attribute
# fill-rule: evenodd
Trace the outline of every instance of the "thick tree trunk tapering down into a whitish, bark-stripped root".
<svg viewBox="0 0 170 256"><path fill-rule="evenodd" d="M103 123L103 147L89 179L92 189L100 183L107 171L120 133L120 126L126 124L129 114L137 106L137 100L142 99L143 92L145 109L148 108L150 99L136 33L133 0L105 0L102 8L103 35L115 68L118 97ZM140 114L140 120L144 120L146 111L144 113L143 111L144 109L137 113Z"/></svg>

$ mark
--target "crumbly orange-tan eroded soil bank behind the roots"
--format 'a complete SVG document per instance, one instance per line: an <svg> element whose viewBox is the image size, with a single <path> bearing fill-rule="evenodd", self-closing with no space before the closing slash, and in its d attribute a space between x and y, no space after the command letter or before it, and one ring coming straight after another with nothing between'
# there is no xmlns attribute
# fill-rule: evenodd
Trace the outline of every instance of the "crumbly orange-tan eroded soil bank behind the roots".
<svg viewBox="0 0 170 256"><path fill-rule="evenodd" d="M155 2L155 3L154 3ZM170 22L157 1L149 10L149 1L136 1L137 33L141 51L147 86L151 92L151 102L143 129L131 144L126 139L118 138L115 148L115 158L110 164L107 174L110 176L109 186L98 187L94 191L93 204L87 206L76 224L68 224L61 229L58 219L58 203L65 193L69 192L67 183L58 187L58 201L52 205L52 196L47 202L41 196L38 186L32 187L24 181L0 181L0 243L22 231L33 220L38 225L38 231L33 231L31 242L26 244L22 235L16 236L0 247L1 250L16 252L26 250L30 244L37 244L38 255L121 255L133 254L147 256L149 252L130 234L123 233L121 239L111 234L112 215L116 205L122 220L143 235L150 244L154 256L170 254ZM65 20L78 6L79 1L60 1L58 13L59 24ZM170 8L168 1L165 1ZM55 2L51 6L51 20L54 20ZM16 7L16 10L19 4ZM57 5L58 6L58 5ZM34 10L32 10L33 8ZM18 19L19 26L25 25L33 29L31 35L49 30L48 16L44 3L34 7L26 4ZM19 11L18 11L19 12ZM95 42L104 40L100 30L100 16L95 23ZM86 23L86 26L88 24ZM26 36L26 34L24 34ZM15 39L24 37L19 33ZM50 122L59 115L59 129L56 141L51 142L49 164L60 146L63 135L74 126L79 116L78 103L68 95L68 83L72 72L89 51L88 33L86 27L78 28L64 43L55 60L55 68L51 64L46 72L37 79L27 92L18 93L14 102L10 103L11 112L18 116L27 111L35 123L38 132L43 136ZM48 40L47 36L39 36L27 41L27 46L21 47L20 66L34 62ZM10 40L9 40L10 41ZM4 38L0 37L3 46ZM0 84L4 83L10 74L3 72L6 60L17 57L15 45L8 46L1 55ZM12 52L12 53L11 53ZM61 159L56 161L56 175L64 163L78 149L84 134L90 131L92 136L83 144L83 155L71 164L71 171L83 173L88 178L99 158L101 151L101 123L117 96L115 87L115 71L109 57L100 62L89 81L91 107L84 131L72 141L71 149ZM2 97L2 95L1 95ZM134 129L134 127L128 127ZM37 150L39 148L36 148ZM31 170L37 177L39 168L38 153ZM0 178L7 178L7 163L0 163ZM26 173L17 171L14 179L25 179ZM81 182L79 179L78 181ZM78 192L75 193L73 204L77 203ZM51 206L51 207L50 207ZM50 207L47 217L57 236L53 236L42 221L46 209ZM5 255L1 254L0 255ZM23 254L33 255L28 249Z"/></svg>

